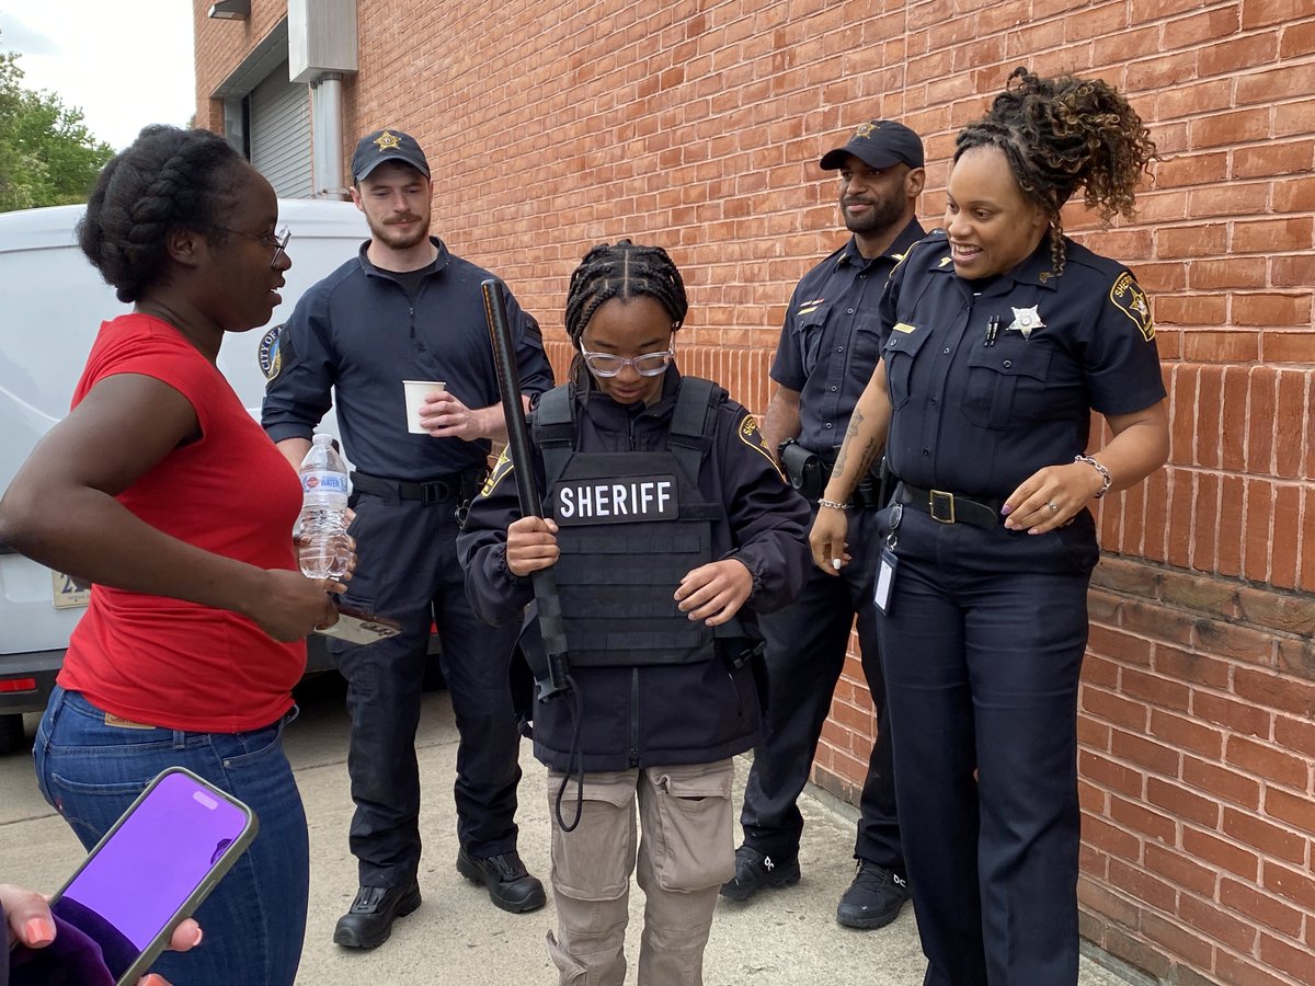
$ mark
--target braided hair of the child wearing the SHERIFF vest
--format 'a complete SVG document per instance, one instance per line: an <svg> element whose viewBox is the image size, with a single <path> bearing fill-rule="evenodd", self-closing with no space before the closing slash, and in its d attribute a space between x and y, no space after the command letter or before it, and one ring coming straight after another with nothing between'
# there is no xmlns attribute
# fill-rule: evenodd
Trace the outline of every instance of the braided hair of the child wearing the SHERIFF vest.
<svg viewBox="0 0 1315 986"><path fill-rule="evenodd" d="M661 247L638 246L629 239L593 247L571 275L567 291L567 335L581 346L584 330L598 306L610 298L650 297L671 316L672 331L680 329L689 312L685 281L675 262ZM572 376L583 383L588 373L579 354L571 364Z"/></svg>

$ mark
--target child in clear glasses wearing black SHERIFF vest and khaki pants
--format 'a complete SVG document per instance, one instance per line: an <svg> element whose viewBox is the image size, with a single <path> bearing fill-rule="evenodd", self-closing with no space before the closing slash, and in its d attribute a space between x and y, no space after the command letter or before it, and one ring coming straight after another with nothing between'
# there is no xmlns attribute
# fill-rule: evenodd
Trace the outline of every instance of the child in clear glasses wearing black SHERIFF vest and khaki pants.
<svg viewBox="0 0 1315 986"><path fill-rule="evenodd" d="M589 251L567 298L575 380L535 410L551 518L521 517L505 463L459 539L467 592L489 622L521 615L533 572L552 568L562 594L571 694L535 705L534 752L558 802L548 951L563 985L626 978L636 860L640 986L702 982L735 862L730 757L759 727L753 657L734 627L751 621L742 606L785 605L807 571L809 506L753 418L672 365L686 308L661 248ZM563 806L573 770L580 797Z"/></svg>

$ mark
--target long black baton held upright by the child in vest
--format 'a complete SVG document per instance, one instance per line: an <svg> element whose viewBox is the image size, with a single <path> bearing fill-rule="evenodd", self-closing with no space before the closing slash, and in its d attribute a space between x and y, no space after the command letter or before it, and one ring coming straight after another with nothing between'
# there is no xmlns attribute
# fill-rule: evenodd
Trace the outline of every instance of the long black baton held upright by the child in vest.
<svg viewBox="0 0 1315 986"><path fill-rule="evenodd" d="M525 425L525 408L521 404L521 375L515 365L515 344L512 340L512 327L506 322L506 305L502 302L501 287L494 279L480 283L480 291L484 292L484 316L488 318L489 335L493 337L493 367L497 373L498 390L502 392L506 446L515 473L515 492L521 500L521 514L523 517L543 517L543 501L539 498L538 482L534 477L534 459L530 456L530 430ZM562 626L562 597L558 593L556 575L551 568L543 568L531 575L530 578L534 582L534 601L539 606L539 634L543 636L546 663L539 664L529 652L526 659L534 672L539 699L544 701L567 688L567 634Z"/></svg>

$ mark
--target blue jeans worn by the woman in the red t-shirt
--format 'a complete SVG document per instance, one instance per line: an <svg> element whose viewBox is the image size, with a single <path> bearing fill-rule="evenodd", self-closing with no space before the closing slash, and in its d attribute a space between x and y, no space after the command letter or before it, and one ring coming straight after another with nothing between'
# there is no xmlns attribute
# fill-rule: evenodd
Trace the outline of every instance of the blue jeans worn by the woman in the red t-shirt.
<svg viewBox="0 0 1315 986"><path fill-rule="evenodd" d="M57 688L33 756L46 801L88 849L167 766L185 766L249 805L260 831L197 908L205 941L155 964L189 986L291 986L301 960L310 880L306 815L283 753L281 720L250 732L105 724L104 710Z"/></svg>

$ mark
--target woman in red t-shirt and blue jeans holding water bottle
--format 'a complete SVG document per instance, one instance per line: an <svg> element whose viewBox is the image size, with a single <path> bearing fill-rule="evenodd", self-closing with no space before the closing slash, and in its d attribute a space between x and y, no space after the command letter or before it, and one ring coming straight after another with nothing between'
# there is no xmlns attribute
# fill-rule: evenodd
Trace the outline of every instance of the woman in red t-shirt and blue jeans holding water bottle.
<svg viewBox="0 0 1315 986"><path fill-rule="evenodd" d="M270 183L221 137L151 126L101 172L79 227L133 313L101 326L74 394L0 501L0 540L93 584L37 731L46 799L89 848L162 769L255 810L260 833L197 918L175 982L291 985L309 880L280 741L302 638L345 586L297 571L287 460L216 359L270 321L292 266Z"/></svg>

